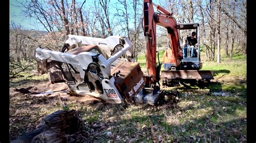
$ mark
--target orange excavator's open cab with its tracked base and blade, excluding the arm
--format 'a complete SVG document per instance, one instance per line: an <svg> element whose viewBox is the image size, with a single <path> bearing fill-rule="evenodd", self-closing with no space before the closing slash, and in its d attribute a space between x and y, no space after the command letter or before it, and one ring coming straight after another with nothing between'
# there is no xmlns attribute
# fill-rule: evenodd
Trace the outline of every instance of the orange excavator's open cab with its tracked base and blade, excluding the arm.
<svg viewBox="0 0 256 143"><path fill-rule="evenodd" d="M196 32L197 46L183 46L185 39ZM213 71L200 70L203 63L200 59L200 36L199 23L179 24L178 28L180 52L183 53L183 58L180 59L180 65L176 69L165 68L161 71L161 80L163 85L174 87L180 84L195 84L198 87L205 87L213 79ZM192 50L194 48L194 55ZM185 53L184 53L185 51ZM185 56L184 56L185 55Z"/></svg>

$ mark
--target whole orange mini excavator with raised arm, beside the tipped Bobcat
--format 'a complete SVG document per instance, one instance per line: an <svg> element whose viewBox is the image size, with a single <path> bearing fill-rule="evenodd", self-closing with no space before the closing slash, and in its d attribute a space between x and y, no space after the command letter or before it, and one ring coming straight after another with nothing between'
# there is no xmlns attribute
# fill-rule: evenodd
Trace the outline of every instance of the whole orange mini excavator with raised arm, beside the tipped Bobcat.
<svg viewBox="0 0 256 143"><path fill-rule="evenodd" d="M158 12L154 12L153 6ZM151 87L159 84L159 80L163 85L173 87L179 83L196 84L204 86L213 78L213 71L199 70L202 68L200 61L200 47L199 47L199 24L177 24L176 19L172 17L172 13L163 9L160 5L154 4L152 0L144 0L143 5L143 29L146 37L146 67L149 71L146 76L146 84ZM161 71L161 63L158 58L158 65L156 62L156 25L163 26L167 29L169 34L169 47L164 53L163 67ZM198 46L196 49L196 56L191 56L192 47L180 46L179 33L180 30L196 30ZM194 47L193 47L194 48ZM183 50L186 49L186 57L183 57Z"/></svg>

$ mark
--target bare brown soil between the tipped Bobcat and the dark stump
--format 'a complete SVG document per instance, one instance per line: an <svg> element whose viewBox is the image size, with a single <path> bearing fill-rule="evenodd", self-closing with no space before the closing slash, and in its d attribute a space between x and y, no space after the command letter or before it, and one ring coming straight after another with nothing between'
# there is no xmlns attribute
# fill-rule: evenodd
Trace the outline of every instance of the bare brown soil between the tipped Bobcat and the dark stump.
<svg viewBox="0 0 256 143"><path fill-rule="evenodd" d="M71 96L66 90L68 85L65 83L49 84L49 82L10 88L10 140L35 130L43 117L50 113L69 110L67 104L85 106L102 102L90 96Z"/></svg>

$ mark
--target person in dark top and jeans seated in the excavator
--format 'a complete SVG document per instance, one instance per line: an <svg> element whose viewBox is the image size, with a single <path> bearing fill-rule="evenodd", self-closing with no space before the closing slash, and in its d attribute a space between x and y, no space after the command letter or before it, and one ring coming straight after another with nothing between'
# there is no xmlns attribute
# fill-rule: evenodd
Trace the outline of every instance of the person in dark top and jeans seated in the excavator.
<svg viewBox="0 0 256 143"><path fill-rule="evenodd" d="M187 49L189 48L191 51L190 57L195 57L195 49L197 48L197 38L196 38L196 32L192 32L191 36L188 36L185 39L185 42L183 44L183 57L187 58Z"/></svg>

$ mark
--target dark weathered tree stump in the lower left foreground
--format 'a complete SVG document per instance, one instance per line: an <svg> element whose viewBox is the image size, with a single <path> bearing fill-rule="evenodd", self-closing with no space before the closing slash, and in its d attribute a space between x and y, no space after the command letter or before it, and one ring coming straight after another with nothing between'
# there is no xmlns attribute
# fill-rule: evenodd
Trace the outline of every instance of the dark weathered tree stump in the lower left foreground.
<svg viewBox="0 0 256 143"><path fill-rule="evenodd" d="M80 131L81 122L76 110L59 110L46 116L36 130L11 142L68 142L69 135Z"/></svg>

